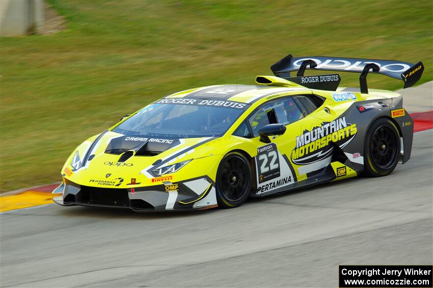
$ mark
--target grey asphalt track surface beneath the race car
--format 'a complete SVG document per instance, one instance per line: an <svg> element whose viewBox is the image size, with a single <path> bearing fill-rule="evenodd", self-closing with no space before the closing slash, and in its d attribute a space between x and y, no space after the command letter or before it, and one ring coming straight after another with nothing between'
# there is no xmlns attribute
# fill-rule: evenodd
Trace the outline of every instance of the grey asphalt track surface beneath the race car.
<svg viewBox="0 0 433 288"><path fill-rule="evenodd" d="M433 262L433 132L382 178L236 209L137 214L56 204L1 215L0 286L338 287L341 264Z"/></svg>

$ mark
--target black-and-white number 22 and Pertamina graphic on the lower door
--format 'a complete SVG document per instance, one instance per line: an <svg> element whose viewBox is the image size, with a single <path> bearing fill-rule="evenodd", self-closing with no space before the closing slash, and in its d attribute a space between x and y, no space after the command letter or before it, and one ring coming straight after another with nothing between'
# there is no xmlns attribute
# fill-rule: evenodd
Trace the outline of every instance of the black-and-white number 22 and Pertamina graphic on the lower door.
<svg viewBox="0 0 433 288"><path fill-rule="evenodd" d="M294 183L291 169L275 143L257 148L256 167L257 195Z"/></svg>

